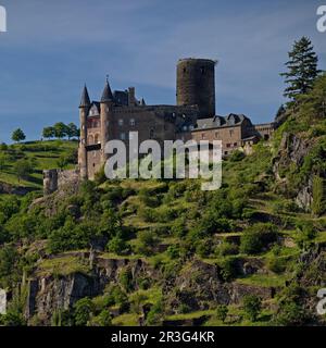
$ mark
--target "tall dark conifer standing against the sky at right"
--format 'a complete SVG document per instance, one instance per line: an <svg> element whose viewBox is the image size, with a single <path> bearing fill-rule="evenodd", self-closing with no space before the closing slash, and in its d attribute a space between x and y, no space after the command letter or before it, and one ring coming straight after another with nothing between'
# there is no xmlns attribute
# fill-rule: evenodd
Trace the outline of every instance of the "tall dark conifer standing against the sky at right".
<svg viewBox="0 0 326 348"><path fill-rule="evenodd" d="M294 41L292 51L288 54L289 61L285 64L288 72L281 73L280 76L284 76L289 85L284 96L296 101L299 95L306 94L313 87L321 71L317 70L318 58L308 37Z"/></svg>

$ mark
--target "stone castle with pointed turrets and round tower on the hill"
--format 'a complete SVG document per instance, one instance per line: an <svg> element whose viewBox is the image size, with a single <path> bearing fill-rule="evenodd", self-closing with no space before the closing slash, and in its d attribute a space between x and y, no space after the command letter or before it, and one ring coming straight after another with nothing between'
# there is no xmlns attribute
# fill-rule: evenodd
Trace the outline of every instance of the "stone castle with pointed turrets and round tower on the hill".
<svg viewBox="0 0 326 348"><path fill-rule="evenodd" d="M253 125L242 114L215 114L215 64L209 59L181 59L177 64L176 105L147 105L135 88L112 92L106 79L100 101L90 101L84 87L80 105L80 177L92 179L108 159L104 145L120 139L128 149L129 132L138 132L139 142L155 139L222 140L223 154L246 149L260 138L268 139L274 123Z"/></svg>

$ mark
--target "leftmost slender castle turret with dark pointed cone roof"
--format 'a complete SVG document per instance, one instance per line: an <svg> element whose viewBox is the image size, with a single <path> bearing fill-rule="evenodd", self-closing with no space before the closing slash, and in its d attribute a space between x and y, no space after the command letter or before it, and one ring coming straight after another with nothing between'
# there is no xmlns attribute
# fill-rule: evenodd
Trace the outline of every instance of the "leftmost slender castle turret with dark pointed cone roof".
<svg viewBox="0 0 326 348"><path fill-rule="evenodd" d="M79 169L82 179L87 179L87 115L90 108L90 99L86 85L84 86L82 100L79 104L79 119L80 119L80 142L79 142Z"/></svg>

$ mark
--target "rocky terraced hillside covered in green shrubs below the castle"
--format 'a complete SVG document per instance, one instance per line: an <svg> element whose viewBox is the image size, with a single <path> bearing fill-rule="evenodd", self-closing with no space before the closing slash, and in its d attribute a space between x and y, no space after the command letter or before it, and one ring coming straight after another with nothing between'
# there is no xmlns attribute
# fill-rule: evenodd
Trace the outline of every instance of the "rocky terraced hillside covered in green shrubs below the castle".
<svg viewBox="0 0 326 348"><path fill-rule="evenodd" d="M285 110L271 141L224 161L220 190L98 175L2 197L3 323L325 325L325 83Z"/></svg>

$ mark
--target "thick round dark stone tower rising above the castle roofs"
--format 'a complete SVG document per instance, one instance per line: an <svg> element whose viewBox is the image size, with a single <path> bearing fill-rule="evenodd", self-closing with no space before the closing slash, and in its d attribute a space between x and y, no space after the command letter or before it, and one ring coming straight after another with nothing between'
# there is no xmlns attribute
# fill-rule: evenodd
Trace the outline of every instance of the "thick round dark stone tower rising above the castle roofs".
<svg viewBox="0 0 326 348"><path fill-rule="evenodd" d="M197 104L199 119L215 115L215 64L195 58L180 59L177 64L177 104Z"/></svg>

